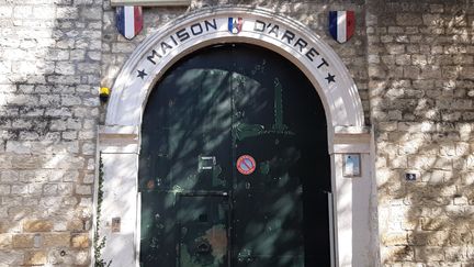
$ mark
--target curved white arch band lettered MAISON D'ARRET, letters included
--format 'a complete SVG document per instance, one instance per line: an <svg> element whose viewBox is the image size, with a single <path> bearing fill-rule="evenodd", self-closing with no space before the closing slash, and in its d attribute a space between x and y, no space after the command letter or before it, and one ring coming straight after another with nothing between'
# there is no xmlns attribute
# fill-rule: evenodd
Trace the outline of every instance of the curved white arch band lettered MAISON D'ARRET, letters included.
<svg viewBox="0 0 474 267"><path fill-rule="evenodd" d="M115 80L108 123L139 125L148 90L173 63L193 51L223 43L249 43L281 54L311 79L326 103L330 125L364 124L357 86L320 36L289 18L235 7L185 13L146 37Z"/></svg>

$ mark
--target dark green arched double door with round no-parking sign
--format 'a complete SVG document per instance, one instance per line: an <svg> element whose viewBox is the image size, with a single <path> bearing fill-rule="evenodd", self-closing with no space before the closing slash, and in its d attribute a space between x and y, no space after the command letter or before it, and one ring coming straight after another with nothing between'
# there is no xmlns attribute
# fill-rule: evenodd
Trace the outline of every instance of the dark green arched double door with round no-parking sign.
<svg viewBox="0 0 474 267"><path fill-rule="evenodd" d="M140 265L330 266L327 144L316 90L281 55L182 58L143 116Z"/></svg>

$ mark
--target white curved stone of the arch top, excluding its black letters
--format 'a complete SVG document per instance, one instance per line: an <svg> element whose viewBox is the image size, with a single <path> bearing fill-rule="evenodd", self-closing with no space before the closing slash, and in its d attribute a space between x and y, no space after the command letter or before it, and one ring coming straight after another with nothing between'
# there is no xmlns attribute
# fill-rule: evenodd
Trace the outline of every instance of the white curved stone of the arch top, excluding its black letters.
<svg viewBox="0 0 474 267"><path fill-rule="evenodd" d="M203 33L185 42L179 42L177 47L167 49L168 53L166 53L157 65L149 66L149 64L146 64L146 57L150 55L149 53L153 49L160 49L160 42L165 41L173 45L172 41L168 37L173 36L179 30L189 29L190 25L204 20L223 19L225 22L227 18L235 16L244 19L244 29L240 33L233 34L227 30L227 24L219 23L217 31ZM336 75L336 82L327 85L323 76L325 70L319 70L317 63L312 63L304 54L298 53L300 46L294 45L297 37L295 37L292 45L287 45L285 43L285 41L287 42L286 38L283 41L281 37L275 37L274 34L261 34L252 31L252 22L255 20L279 25L280 35L282 35L284 30L290 30L296 36L303 37L304 41L309 43L307 47L315 47L321 55L321 58L325 58L329 63L330 67L327 70L334 71L331 74ZM227 7L205 9L183 15L161 29L161 31L147 37L123 66L112 88L112 98L106 113L108 125L139 125L147 97L154 84L179 58L212 44L238 42L270 48L286 57L302 69L311 79L323 100L329 125L332 127L364 126L364 115L359 92L342 60L318 35L297 21L266 10ZM174 40L177 40L176 36ZM315 58L315 60L317 59ZM149 71L144 80L136 79L136 70L138 68Z"/></svg>

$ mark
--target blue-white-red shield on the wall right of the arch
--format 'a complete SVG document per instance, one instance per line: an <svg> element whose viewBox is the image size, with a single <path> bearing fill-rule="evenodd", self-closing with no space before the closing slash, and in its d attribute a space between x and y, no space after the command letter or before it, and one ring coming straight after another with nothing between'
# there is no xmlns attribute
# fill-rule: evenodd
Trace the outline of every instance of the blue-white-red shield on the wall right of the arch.
<svg viewBox="0 0 474 267"><path fill-rule="evenodd" d="M329 11L329 33L339 43L346 43L356 31L353 11Z"/></svg>

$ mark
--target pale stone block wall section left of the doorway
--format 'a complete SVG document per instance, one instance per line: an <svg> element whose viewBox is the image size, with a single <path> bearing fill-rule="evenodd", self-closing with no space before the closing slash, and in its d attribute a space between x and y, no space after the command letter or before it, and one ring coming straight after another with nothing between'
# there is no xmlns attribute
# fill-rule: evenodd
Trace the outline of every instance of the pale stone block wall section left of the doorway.
<svg viewBox="0 0 474 267"><path fill-rule="evenodd" d="M0 266L89 266L102 2L0 1Z"/></svg>

